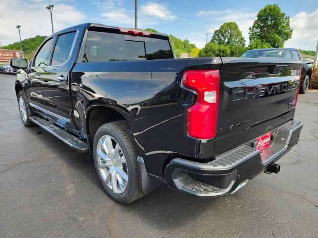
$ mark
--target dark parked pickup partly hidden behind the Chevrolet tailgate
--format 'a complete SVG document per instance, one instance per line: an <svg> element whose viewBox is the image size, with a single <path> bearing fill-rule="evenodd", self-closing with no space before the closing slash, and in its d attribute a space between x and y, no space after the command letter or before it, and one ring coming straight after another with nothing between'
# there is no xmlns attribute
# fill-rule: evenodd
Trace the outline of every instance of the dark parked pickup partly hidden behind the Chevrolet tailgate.
<svg viewBox="0 0 318 238"><path fill-rule="evenodd" d="M254 49L246 51L241 57L278 57L286 59L302 60L301 81L299 93L306 93L309 80L312 76L313 60L303 60L302 55L296 48L268 48L268 49Z"/></svg>

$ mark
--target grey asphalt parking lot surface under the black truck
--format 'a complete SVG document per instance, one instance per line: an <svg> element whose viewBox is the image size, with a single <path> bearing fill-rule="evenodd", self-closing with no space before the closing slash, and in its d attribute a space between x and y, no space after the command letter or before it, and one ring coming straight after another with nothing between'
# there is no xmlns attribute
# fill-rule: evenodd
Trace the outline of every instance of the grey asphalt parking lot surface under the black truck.
<svg viewBox="0 0 318 238"><path fill-rule="evenodd" d="M318 93L299 95L301 141L277 175L202 199L162 185L121 205L103 191L92 156L23 126L15 76L0 74L0 237L318 237Z"/></svg>

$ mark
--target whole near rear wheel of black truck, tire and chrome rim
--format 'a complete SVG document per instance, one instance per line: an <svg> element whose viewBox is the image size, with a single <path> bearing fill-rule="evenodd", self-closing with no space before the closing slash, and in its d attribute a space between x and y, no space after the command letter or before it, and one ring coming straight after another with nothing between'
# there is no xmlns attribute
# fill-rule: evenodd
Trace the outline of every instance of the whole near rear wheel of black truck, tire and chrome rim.
<svg viewBox="0 0 318 238"><path fill-rule="evenodd" d="M98 177L112 199L130 203L142 197L137 153L126 121L110 122L99 127L93 150Z"/></svg>

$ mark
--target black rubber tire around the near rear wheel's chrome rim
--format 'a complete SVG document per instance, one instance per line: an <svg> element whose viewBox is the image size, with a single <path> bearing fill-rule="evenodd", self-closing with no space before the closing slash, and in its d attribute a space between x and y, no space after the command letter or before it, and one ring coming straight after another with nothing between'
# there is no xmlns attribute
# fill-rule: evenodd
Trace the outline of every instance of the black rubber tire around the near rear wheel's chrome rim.
<svg viewBox="0 0 318 238"><path fill-rule="evenodd" d="M118 194L112 191L104 181L99 166L97 156L97 144L101 137L111 136L120 146L126 159L128 183L126 189ZM138 176L137 152L134 145L133 135L126 121L114 121L100 126L94 137L94 163L99 180L106 193L115 201L120 203L130 203L143 196Z"/></svg>

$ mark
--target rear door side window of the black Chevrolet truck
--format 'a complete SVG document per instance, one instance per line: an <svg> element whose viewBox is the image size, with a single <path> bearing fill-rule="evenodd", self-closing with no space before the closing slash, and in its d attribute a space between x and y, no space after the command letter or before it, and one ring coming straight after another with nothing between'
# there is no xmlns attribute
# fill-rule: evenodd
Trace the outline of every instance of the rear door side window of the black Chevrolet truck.
<svg viewBox="0 0 318 238"><path fill-rule="evenodd" d="M60 65L69 59L75 32L60 35L53 51L51 65Z"/></svg>

